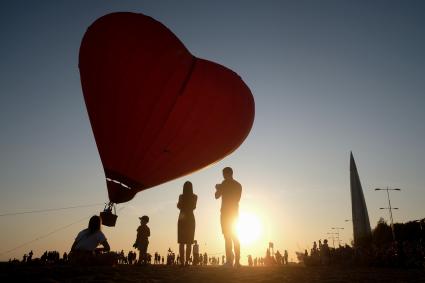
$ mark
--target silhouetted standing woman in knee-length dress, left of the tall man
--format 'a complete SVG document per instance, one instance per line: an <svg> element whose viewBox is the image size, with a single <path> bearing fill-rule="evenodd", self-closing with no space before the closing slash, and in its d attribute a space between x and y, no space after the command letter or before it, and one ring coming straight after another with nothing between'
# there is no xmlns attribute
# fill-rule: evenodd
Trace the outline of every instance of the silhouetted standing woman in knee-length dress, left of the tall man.
<svg viewBox="0 0 425 283"><path fill-rule="evenodd" d="M193 193L192 183L187 181L183 185L183 194L179 196L177 208L180 209L177 223L177 242L179 243L180 264L188 264L195 239L195 216L193 210L196 208L198 196ZM186 245L186 258L185 258Z"/></svg>

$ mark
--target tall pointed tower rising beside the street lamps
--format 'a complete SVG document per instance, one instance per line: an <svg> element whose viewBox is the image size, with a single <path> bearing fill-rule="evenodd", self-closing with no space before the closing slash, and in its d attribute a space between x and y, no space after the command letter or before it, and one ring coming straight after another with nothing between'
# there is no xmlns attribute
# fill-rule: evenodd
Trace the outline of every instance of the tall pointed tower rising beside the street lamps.
<svg viewBox="0 0 425 283"><path fill-rule="evenodd" d="M353 220L354 245L358 246L361 239L372 235L370 230L369 215L363 196L362 184L357 172L353 153L350 152L350 185L351 185L351 211Z"/></svg>

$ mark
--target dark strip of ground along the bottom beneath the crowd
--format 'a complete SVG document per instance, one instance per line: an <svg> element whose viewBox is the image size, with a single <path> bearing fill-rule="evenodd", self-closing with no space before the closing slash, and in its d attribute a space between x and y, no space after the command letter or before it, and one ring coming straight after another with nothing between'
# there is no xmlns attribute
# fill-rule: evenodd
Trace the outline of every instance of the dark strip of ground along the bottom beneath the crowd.
<svg viewBox="0 0 425 283"><path fill-rule="evenodd" d="M417 269L342 267L25 266L0 263L0 282L425 282Z"/></svg>

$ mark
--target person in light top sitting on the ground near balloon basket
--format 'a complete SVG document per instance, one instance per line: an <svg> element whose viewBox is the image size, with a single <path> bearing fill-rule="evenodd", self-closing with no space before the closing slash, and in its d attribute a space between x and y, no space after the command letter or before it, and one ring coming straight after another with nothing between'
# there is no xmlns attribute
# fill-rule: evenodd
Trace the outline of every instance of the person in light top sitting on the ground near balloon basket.
<svg viewBox="0 0 425 283"><path fill-rule="evenodd" d="M105 234L101 231L102 220L99 216L94 215L90 218L87 229L78 233L72 244L71 251L93 253L99 245L103 246L104 251L109 251L111 248L106 240Z"/></svg>

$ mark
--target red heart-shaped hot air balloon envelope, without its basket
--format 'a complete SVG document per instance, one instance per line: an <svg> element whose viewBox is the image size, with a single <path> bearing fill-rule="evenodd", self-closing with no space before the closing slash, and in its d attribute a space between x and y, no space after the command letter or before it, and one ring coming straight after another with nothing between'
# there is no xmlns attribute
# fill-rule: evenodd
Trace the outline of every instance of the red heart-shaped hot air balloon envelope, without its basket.
<svg viewBox="0 0 425 283"><path fill-rule="evenodd" d="M111 202L217 162L254 121L254 99L236 73L191 55L142 14L96 20L79 68Z"/></svg>

